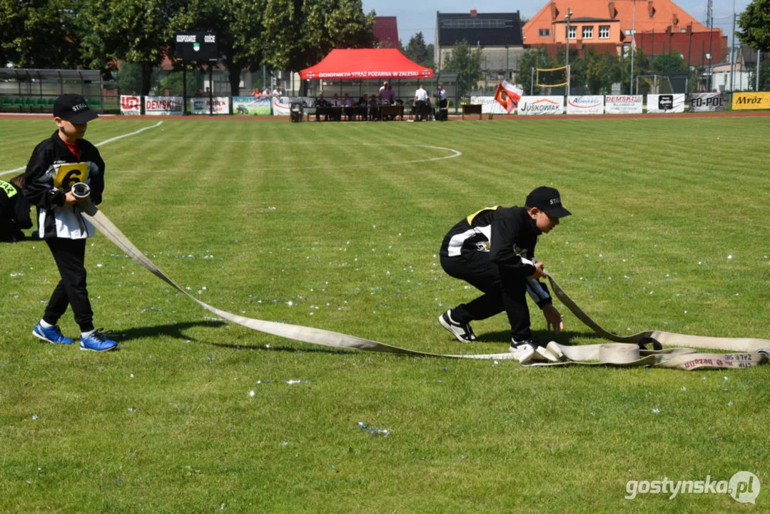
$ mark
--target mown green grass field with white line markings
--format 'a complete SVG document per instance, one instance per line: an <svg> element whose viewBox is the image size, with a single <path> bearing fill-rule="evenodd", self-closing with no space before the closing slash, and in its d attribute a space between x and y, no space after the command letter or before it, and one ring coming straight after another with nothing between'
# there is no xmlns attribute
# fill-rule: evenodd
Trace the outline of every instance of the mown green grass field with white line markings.
<svg viewBox="0 0 770 514"><path fill-rule="evenodd" d="M99 119L87 138L155 123ZM0 119L0 172L54 128ZM507 350L504 315L474 324L475 344L437 323L474 295L440 269L441 239L552 185L574 215L538 257L604 327L770 338L768 140L768 118L166 120L100 147L101 208L216 307L490 353ZM32 338L58 281L45 244L0 248L0 512L770 510L765 490L755 506L624 499L629 480L749 471L770 487L768 367L333 351L212 319L102 236L87 249L89 294L121 350L93 354ZM562 314L556 341L601 342ZM70 311L60 324L76 334Z"/></svg>

